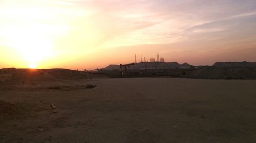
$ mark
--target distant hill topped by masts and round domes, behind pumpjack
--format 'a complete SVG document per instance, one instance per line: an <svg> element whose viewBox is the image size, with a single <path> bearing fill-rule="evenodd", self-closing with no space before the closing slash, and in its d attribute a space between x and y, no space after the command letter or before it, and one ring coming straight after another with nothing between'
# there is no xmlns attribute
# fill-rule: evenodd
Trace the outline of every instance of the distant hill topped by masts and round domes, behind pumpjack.
<svg viewBox="0 0 256 143"><path fill-rule="evenodd" d="M179 64L177 62L140 62L135 64L135 67L131 66L131 69L178 69L178 68L190 68L192 65L187 63ZM109 65L102 68L102 70L115 70L119 69L119 65Z"/></svg>

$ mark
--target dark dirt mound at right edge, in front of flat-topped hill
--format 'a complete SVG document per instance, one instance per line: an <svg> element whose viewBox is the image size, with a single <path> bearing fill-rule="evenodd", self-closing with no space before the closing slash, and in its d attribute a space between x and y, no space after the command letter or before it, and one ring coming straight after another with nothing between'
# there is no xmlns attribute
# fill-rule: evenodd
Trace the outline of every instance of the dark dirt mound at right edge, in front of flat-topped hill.
<svg viewBox="0 0 256 143"><path fill-rule="evenodd" d="M256 68L204 66L187 75L204 79L256 79Z"/></svg>

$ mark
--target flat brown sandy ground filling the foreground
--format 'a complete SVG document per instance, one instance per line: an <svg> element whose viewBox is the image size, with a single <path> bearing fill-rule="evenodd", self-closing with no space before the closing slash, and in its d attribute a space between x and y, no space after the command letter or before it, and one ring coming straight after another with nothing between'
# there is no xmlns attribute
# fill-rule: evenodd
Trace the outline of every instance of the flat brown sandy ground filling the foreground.
<svg viewBox="0 0 256 143"><path fill-rule="evenodd" d="M79 88L88 83L97 87ZM27 83L0 100L20 107L0 115L0 142L256 142L256 80Z"/></svg>

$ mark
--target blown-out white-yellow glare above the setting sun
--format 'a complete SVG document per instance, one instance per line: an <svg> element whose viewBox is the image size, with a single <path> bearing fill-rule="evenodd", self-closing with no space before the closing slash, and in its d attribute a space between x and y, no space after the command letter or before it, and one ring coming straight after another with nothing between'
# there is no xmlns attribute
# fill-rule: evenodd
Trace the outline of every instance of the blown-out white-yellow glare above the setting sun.
<svg viewBox="0 0 256 143"><path fill-rule="evenodd" d="M54 56L53 47L70 30L61 21L65 17L59 11L61 7L51 9L51 5L38 4L16 5L6 1L0 6L0 19L6 19L0 20L0 44L19 55L17 67L44 67L44 62Z"/></svg>

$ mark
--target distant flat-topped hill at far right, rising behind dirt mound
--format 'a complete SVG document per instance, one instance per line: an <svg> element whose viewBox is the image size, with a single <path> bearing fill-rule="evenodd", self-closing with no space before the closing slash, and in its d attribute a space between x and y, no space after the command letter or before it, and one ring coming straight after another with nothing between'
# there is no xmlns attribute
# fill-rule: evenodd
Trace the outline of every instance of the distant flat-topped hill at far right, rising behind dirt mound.
<svg viewBox="0 0 256 143"><path fill-rule="evenodd" d="M256 62L216 62L214 67L256 67Z"/></svg>

